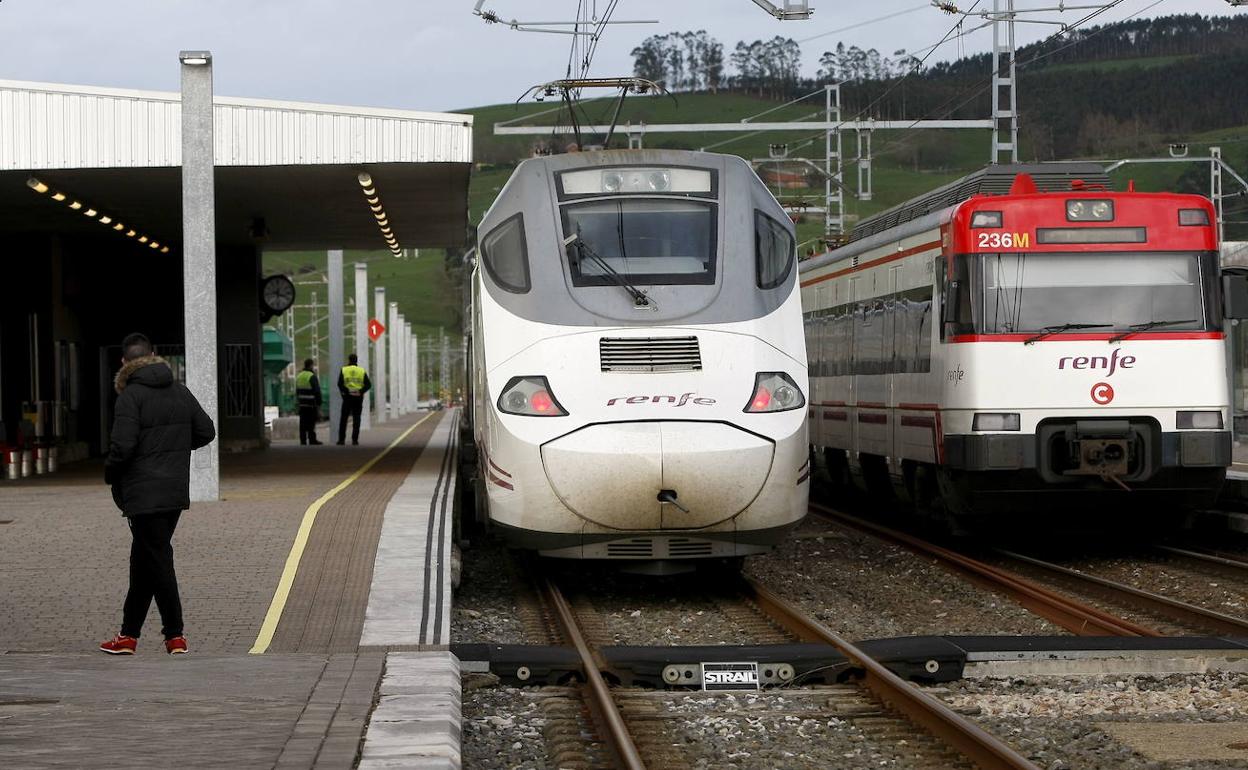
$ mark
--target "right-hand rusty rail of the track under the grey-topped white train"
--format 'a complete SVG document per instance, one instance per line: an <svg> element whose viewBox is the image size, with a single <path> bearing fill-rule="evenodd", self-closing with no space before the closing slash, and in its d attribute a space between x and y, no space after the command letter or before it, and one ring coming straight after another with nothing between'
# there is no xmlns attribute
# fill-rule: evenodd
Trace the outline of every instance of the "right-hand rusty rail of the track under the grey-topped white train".
<svg viewBox="0 0 1248 770"><path fill-rule="evenodd" d="M800 639L822 641L839 649L854 665L865 671L864 683L880 700L892 705L907 719L943 740L982 770L1038 770L1031 760L1015 751L1001 739L897 676L849 640L809 618L797 607L750 578L743 580L744 590L763 612L775 618Z"/></svg>

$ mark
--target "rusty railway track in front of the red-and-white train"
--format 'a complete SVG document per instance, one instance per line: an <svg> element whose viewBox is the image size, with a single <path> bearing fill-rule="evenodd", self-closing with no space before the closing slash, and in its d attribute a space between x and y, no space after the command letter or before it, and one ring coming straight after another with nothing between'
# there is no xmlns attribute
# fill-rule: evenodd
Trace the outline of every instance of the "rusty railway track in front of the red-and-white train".
<svg viewBox="0 0 1248 770"><path fill-rule="evenodd" d="M836 524L934 558L972 582L1011 597L1023 608L1077 635L1164 636L1192 631L1248 634L1248 620L1242 618L1025 554L997 549L993 554L1003 564L992 564L824 505L812 504L811 510ZM1033 577L1037 574L1042 575L1042 580ZM1148 623L1123 616L1123 609L1137 616L1143 615Z"/></svg>

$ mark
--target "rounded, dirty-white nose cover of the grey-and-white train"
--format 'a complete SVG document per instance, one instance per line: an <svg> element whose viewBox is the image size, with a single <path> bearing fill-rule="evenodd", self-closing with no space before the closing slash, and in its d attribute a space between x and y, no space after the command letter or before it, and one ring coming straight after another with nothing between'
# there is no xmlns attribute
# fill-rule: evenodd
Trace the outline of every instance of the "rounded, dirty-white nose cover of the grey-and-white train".
<svg viewBox="0 0 1248 770"><path fill-rule="evenodd" d="M595 524L693 529L744 510L774 453L770 441L719 423L610 423L547 443L542 463L559 499Z"/></svg>

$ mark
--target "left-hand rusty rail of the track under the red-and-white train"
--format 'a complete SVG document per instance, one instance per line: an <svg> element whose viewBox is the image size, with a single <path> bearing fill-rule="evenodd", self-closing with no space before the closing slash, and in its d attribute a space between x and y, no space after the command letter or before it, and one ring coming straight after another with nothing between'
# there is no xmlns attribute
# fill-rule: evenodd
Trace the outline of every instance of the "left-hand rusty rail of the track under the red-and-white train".
<svg viewBox="0 0 1248 770"><path fill-rule="evenodd" d="M926 543L904 532L882 527L857 517L832 510L812 503L810 509L825 519L854 527L870 535L896 543L920 554L930 555L943 565L985 585L990 590L1002 592L1021 607L1041 618L1056 623L1078 636L1162 636L1153 628L1132 623L1111 613L1088 607L1082 602L1037 585L1008 570L985 564L977 559L962 555L947 548Z"/></svg>

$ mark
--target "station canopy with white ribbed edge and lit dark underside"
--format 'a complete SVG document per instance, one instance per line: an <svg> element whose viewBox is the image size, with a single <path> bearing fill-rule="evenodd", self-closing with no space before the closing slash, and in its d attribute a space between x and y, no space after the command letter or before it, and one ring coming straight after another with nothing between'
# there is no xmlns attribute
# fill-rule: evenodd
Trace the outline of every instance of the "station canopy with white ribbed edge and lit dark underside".
<svg viewBox="0 0 1248 770"><path fill-rule="evenodd" d="M218 243L387 248L367 173L401 247L463 245L470 115L220 96L213 112ZM0 80L0 233L99 235L102 215L176 247L181 155L178 94Z"/></svg>

